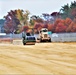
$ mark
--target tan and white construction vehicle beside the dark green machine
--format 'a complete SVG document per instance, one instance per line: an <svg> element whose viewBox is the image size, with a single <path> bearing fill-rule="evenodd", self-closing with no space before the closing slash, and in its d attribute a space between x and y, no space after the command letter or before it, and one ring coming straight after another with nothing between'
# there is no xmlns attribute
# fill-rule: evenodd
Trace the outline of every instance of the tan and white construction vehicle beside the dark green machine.
<svg viewBox="0 0 76 75"><path fill-rule="evenodd" d="M48 34L48 29L47 28L42 28L39 31L39 37L37 38L37 40L39 40L40 42L43 42L43 41L51 42L51 38Z"/></svg>

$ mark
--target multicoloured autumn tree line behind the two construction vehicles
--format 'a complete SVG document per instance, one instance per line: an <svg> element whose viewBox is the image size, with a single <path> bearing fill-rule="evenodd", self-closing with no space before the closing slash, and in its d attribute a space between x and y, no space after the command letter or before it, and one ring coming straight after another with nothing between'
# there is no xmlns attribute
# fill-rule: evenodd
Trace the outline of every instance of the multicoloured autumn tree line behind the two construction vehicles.
<svg viewBox="0 0 76 75"><path fill-rule="evenodd" d="M76 32L76 1L61 7L59 12L42 13L42 17L32 15L22 9L10 10L5 18L4 31L6 33L27 32L38 33L41 28L48 28L53 33Z"/></svg>

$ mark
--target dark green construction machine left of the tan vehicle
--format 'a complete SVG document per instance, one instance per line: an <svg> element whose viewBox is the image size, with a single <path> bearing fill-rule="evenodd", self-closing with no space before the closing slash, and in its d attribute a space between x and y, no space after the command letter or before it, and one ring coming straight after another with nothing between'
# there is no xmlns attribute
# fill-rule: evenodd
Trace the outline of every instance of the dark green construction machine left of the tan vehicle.
<svg viewBox="0 0 76 75"><path fill-rule="evenodd" d="M23 42L23 45L26 45L26 44L35 45L36 38L34 37L34 34L24 31L22 33L22 42Z"/></svg>

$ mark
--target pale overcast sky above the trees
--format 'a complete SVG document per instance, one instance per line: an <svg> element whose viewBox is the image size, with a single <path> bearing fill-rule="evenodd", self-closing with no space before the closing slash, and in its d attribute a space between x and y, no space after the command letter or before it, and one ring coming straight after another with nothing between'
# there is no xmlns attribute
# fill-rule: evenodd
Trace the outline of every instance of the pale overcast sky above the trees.
<svg viewBox="0 0 76 75"><path fill-rule="evenodd" d="M75 0L0 0L0 18L14 9L29 10L31 15L50 14L71 1Z"/></svg>

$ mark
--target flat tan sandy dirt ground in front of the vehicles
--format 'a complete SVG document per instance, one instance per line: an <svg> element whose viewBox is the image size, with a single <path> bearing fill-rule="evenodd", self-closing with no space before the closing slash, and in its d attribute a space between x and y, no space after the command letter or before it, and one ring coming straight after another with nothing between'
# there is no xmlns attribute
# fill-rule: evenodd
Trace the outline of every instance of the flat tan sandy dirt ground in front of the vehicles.
<svg viewBox="0 0 76 75"><path fill-rule="evenodd" d="M0 44L0 75L76 75L76 43Z"/></svg>

